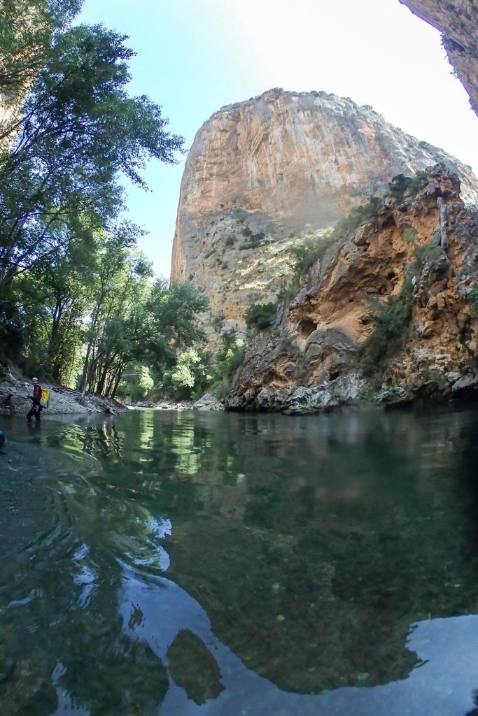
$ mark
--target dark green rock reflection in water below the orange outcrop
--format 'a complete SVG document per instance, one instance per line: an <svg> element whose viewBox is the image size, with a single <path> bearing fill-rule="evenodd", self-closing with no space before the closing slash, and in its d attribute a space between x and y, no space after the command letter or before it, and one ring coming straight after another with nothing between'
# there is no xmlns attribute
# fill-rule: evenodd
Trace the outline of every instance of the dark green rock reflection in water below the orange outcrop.
<svg viewBox="0 0 478 716"><path fill-rule="evenodd" d="M458 425L361 420L312 434L296 422L288 439L280 420L239 423L244 479L226 484L214 453L195 478L204 518L173 520L168 574L283 689L403 679L420 663L405 648L412 621L475 609Z"/></svg>

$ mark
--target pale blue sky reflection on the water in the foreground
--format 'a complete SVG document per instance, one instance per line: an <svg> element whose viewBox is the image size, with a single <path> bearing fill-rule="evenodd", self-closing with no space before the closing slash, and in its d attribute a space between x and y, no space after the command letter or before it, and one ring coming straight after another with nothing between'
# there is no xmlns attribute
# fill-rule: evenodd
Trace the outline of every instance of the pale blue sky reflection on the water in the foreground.
<svg viewBox="0 0 478 716"><path fill-rule="evenodd" d="M132 639L146 639L158 657L168 663L170 644L183 631L196 634L201 649L209 649L213 684L221 674L217 697L198 704L181 688L192 677L191 660L184 655L179 683L170 681L161 707L165 716L230 716L246 712L253 716L465 716L472 707L477 684L475 655L478 653L478 616L430 619L414 624L404 647L417 654L419 664L406 679L381 686L342 687L320 695L280 690L276 684L247 668L234 652L211 632L208 616L201 606L176 584L162 580L161 592L125 582L123 599L142 605L143 630L130 632ZM126 614L126 612L125 612ZM212 663L212 661L211 661ZM170 666L171 673L171 666ZM472 712L473 716L474 713Z"/></svg>

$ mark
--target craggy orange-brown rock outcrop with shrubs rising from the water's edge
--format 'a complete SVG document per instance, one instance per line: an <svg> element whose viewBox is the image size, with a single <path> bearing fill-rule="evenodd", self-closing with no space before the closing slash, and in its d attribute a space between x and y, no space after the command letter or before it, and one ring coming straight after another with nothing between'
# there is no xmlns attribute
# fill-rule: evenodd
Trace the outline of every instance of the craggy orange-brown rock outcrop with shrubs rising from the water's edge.
<svg viewBox="0 0 478 716"><path fill-rule="evenodd" d="M477 213L436 165L337 236L273 330L249 343L229 407L303 413L476 393L477 279Z"/></svg>

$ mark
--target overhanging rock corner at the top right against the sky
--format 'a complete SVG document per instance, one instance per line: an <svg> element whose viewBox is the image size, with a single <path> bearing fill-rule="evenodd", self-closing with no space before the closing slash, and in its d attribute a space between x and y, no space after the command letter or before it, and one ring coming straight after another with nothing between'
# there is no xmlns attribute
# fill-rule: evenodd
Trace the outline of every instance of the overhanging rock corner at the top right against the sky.
<svg viewBox="0 0 478 716"><path fill-rule="evenodd" d="M476 0L400 0L443 33L444 47L478 114L478 4Z"/></svg>

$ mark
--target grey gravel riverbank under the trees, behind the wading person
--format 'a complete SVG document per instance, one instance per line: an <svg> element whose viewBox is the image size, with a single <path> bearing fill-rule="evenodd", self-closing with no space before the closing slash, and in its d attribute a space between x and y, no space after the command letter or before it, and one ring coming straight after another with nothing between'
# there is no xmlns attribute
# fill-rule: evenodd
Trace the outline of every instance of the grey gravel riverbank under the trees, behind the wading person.
<svg viewBox="0 0 478 716"><path fill-rule="evenodd" d="M75 415L78 413L125 412L133 407L150 407L156 410L224 410L214 395L204 395L196 402L166 402L155 405L125 405L118 400L105 398L94 393L85 393L71 388L42 382L50 391L47 415ZM0 415L27 414L32 405L27 395L32 393L31 379L18 370L9 367L0 374Z"/></svg>

